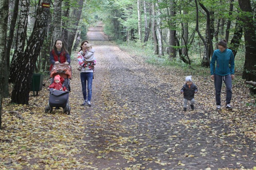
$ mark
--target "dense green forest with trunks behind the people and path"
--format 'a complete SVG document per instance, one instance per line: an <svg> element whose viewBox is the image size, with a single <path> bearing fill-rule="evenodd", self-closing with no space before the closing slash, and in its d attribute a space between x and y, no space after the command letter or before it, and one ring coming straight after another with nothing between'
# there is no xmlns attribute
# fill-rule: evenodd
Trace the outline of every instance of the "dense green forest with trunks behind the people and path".
<svg viewBox="0 0 256 170"><path fill-rule="evenodd" d="M0 0L0 9L0 101L28 104L32 75L49 72L54 41L72 54L99 21L111 41L188 65L209 67L226 39L244 59L242 78L256 81L255 0Z"/></svg>

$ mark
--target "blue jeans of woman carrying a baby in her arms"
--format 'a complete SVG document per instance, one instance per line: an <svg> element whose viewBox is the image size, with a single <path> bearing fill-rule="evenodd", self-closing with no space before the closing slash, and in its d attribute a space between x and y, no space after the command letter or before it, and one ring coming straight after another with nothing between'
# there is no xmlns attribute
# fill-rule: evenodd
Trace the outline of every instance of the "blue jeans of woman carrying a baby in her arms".
<svg viewBox="0 0 256 170"><path fill-rule="evenodd" d="M93 72L81 72L80 73L84 100L91 101L91 99L92 99L92 77L93 77ZM87 82L88 96L86 93L86 82Z"/></svg>

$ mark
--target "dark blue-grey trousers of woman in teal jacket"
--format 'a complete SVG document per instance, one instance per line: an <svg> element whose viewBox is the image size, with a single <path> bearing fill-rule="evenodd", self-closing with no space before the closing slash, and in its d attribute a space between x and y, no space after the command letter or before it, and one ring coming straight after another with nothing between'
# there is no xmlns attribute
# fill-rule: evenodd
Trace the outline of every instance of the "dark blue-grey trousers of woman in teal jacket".
<svg viewBox="0 0 256 170"><path fill-rule="evenodd" d="M232 98L232 79L231 75L219 76L214 74L214 86L215 86L215 98L216 105L220 105L220 92L222 87L222 82L224 81L226 85L226 104L230 104Z"/></svg>

